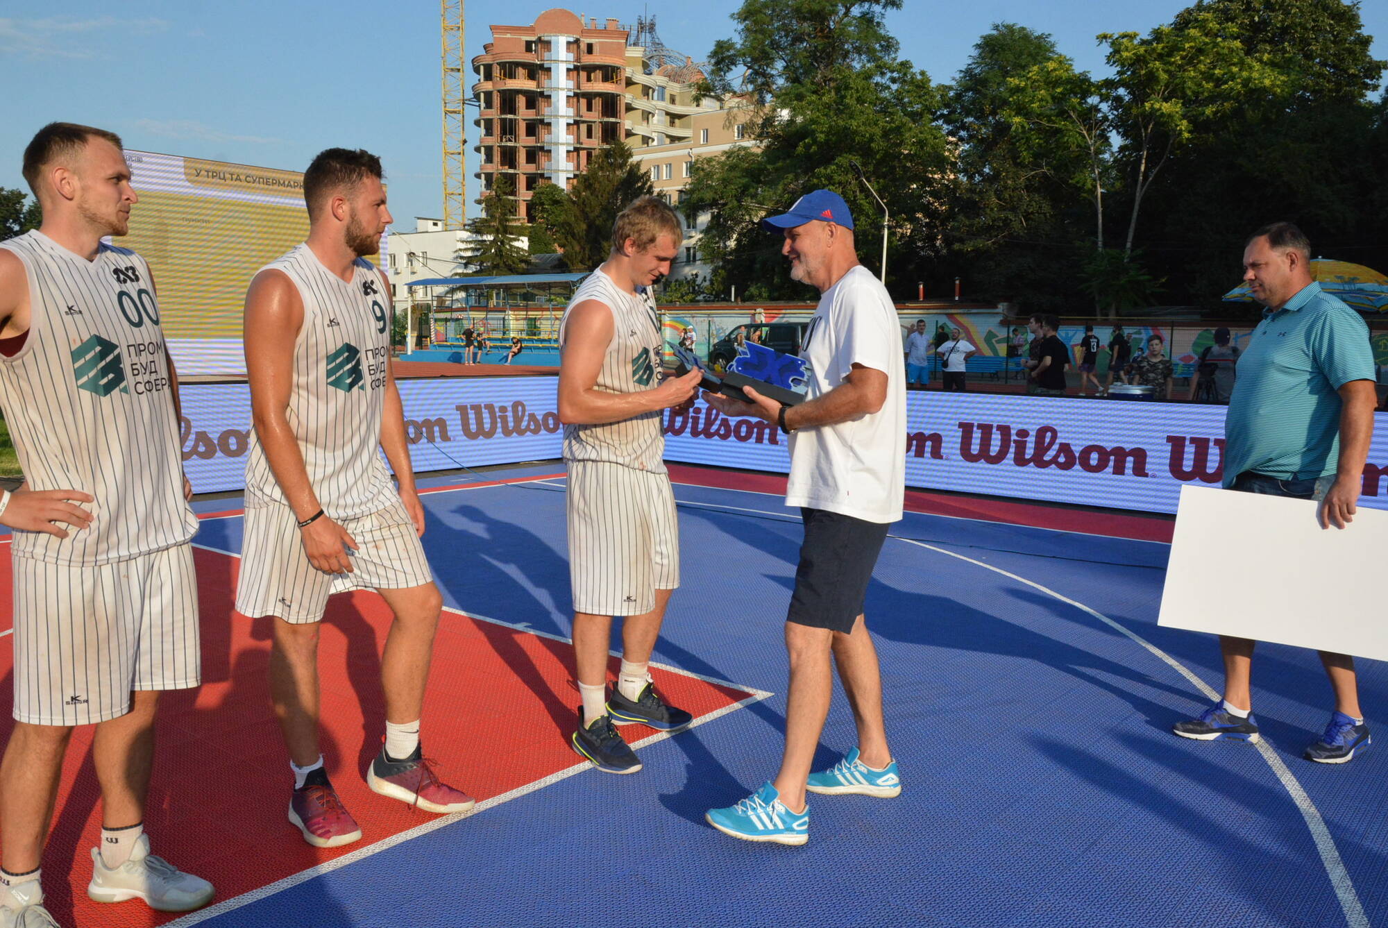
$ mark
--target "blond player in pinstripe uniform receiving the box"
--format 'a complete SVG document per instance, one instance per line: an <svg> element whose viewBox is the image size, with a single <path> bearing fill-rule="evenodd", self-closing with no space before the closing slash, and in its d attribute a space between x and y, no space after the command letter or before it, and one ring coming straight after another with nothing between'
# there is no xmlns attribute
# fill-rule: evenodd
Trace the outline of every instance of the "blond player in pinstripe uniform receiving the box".
<svg viewBox="0 0 1388 928"><path fill-rule="evenodd" d="M569 578L579 728L573 749L608 774L641 770L615 724L670 731L693 717L665 703L648 674L670 590L679 586L675 495L661 460L661 410L688 400L700 371L659 379L661 320L651 286L683 240L679 217L643 196L612 225L612 251L559 322L559 418L569 471ZM622 668L607 695L612 617Z"/></svg>

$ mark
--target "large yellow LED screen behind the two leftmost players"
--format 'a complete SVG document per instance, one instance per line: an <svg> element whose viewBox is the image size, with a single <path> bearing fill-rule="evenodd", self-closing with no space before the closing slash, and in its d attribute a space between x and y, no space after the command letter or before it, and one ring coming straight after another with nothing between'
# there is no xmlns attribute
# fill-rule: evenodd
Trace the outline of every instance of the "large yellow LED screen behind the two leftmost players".
<svg viewBox="0 0 1388 928"><path fill-rule="evenodd" d="M304 175L153 151L125 160L140 200L117 245L150 263L179 374L244 374L246 288L307 238Z"/></svg>

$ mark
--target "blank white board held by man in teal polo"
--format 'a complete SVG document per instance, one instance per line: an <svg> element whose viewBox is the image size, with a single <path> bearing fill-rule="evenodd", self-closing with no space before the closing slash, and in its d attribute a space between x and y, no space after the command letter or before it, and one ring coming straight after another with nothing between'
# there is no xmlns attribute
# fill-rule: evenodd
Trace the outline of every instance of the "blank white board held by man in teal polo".
<svg viewBox="0 0 1388 928"><path fill-rule="evenodd" d="M1158 624L1388 660L1374 578L1388 513L1323 529L1317 504L1183 486Z"/></svg>

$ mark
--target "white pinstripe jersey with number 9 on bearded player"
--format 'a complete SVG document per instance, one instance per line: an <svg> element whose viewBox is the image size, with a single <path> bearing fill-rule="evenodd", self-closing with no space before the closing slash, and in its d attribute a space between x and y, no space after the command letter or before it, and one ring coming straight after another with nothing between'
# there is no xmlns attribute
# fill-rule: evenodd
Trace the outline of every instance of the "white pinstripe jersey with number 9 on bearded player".
<svg viewBox="0 0 1388 928"><path fill-rule="evenodd" d="M390 506L396 490L379 453L390 358L390 300L380 272L357 258L351 282L343 281L307 245L264 270L289 276L304 303L286 417L319 504L335 520ZM289 500L251 429L246 504L269 503Z"/></svg>

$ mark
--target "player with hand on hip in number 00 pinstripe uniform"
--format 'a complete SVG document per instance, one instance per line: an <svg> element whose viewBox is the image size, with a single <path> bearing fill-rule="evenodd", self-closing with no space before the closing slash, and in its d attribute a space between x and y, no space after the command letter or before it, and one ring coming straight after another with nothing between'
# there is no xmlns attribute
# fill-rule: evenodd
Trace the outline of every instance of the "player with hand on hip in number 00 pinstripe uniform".
<svg viewBox="0 0 1388 928"><path fill-rule="evenodd" d="M178 381L144 258L104 245L137 201L121 139L53 122L24 153L37 232L0 242L0 403L25 485L14 545L14 732L0 763L0 925L56 925L39 864L74 725L96 725L96 902L185 911L212 885L150 854L162 689L200 682ZM81 503L82 506L78 506Z"/></svg>

